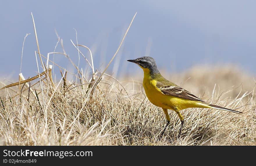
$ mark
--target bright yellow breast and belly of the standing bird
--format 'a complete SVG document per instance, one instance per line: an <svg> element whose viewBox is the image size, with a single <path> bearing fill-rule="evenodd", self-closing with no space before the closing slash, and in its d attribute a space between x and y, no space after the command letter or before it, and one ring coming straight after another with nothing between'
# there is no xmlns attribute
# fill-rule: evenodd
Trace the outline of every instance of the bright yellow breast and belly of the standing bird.
<svg viewBox="0 0 256 166"><path fill-rule="evenodd" d="M157 81L148 78L143 79L143 87L149 101L161 108L182 110L191 107L200 107L198 101L191 101L183 98L163 94L157 87Z"/></svg>

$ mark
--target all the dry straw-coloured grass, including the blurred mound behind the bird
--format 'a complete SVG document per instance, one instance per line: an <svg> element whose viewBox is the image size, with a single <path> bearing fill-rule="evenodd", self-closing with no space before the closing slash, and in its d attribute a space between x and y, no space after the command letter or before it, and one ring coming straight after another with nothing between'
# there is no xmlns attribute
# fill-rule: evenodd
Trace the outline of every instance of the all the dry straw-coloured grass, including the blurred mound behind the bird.
<svg viewBox="0 0 256 166"><path fill-rule="evenodd" d="M40 78L0 91L1 145L255 145L255 80L233 66L195 67L167 78L209 103L243 114L183 110L185 122L179 138L179 118L169 110L171 122L159 140L166 119L161 108L145 97L141 75L133 76L136 81L128 81L104 72L86 74L63 49L61 54L70 59L77 73L62 68L62 78L54 82L49 54L45 65L39 53L45 68L39 72L38 65L38 73L43 73ZM67 75L73 75L76 81L67 80ZM6 80L0 87L4 83Z"/></svg>

